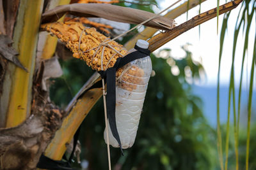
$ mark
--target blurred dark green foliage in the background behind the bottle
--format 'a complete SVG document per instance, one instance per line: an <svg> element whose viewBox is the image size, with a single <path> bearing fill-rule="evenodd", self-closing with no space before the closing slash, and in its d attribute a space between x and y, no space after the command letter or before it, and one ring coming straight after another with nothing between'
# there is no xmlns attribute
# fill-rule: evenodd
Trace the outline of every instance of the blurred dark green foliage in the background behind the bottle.
<svg viewBox="0 0 256 170"><path fill-rule="evenodd" d="M152 54L154 76L148 83L141 120L132 148L124 151L111 148L112 165L116 169L213 169L216 166L215 132L202 114L202 101L191 94L186 78L199 78L202 66L193 61L191 52L183 46L186 57L175 60L170 50L164 59ZM77 59L61 61L63 76L54 79L51 99L65 106L93 73ZM179 75L172 74L179 68ZM186 67L186 69L185 69ZM89 169L108 169L106 144L103 139L104 111L102 99L93 107L82 125L79 136L81 159L89 162Z"/></svg>

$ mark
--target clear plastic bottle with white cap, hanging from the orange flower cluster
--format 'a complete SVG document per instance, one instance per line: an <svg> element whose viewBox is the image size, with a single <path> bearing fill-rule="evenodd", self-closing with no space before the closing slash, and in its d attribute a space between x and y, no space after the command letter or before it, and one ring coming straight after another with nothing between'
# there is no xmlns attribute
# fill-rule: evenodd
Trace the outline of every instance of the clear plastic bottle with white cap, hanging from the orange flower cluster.
<svg viewBox="0 0 256 170"><path fill-rule="evenodd" d="M136 45L148 48L148 42L142 39L139 39ZM132 48L129 52L134 51ZM151 72L152 63L147 56L126 64L116 80L116 127L124 149L134 144ZM113 137L109 123L108 132L109 144L118 148L118 142ZM107 143L106 128L104 139Z"/></svg>

